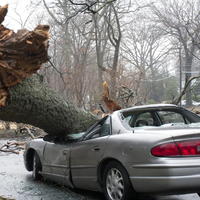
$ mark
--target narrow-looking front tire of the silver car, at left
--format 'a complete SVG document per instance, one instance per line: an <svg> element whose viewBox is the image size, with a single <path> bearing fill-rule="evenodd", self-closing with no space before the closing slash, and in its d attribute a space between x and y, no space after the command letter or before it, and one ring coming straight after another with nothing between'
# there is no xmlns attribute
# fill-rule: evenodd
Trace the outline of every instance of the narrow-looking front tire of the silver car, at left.
<svg viewBox="0 0 200 200"><path fill-rule="evenodd" d="M32 177L33 180L37 181L40 180L42 178L40 172L42 170L42 165L40 162L40 158L38 156L38 154L36 152L34 152L33 155L33 172L32 172Z"/></svg>

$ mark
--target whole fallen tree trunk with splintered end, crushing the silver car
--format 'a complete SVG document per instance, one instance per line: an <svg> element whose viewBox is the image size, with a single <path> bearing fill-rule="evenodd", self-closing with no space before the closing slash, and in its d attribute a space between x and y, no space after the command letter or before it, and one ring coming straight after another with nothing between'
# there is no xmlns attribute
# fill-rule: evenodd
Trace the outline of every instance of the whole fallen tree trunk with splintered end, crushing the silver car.
<svg viewBox="0 0 200 200"><path fill-rule="evenodd" d="M0 24L8 5L0 7ZM0 119L31 124L50 135L84 131L96 121L34 75L48 61L49 26L17 33L0 25Z"/></svg>

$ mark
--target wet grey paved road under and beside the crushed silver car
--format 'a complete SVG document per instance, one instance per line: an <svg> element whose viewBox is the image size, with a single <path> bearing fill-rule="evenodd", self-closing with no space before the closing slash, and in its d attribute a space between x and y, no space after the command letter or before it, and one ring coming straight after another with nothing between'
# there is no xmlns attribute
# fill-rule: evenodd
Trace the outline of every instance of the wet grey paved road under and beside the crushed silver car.
<svg viewBox="0 0 200 200"><path fill-rule="evenodd" d="M0 142L1 144L1 142ZM95 192L70 190L48 182L35 182L19 155L0 152L0 196L16 200L104 200ZM197 194L141 197L140 200L200 200Z"/></svg>

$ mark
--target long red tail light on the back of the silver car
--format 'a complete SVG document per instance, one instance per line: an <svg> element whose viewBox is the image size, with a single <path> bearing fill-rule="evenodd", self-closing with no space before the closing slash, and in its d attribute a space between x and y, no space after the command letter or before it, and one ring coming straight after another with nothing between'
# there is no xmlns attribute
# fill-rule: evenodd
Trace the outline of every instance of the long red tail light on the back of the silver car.
<svg viewBox="0 0 200 200"><path fill-rule="evenodd" d="M200 156L200 140L179 141L155 146L151 150L153 156Z"/></svg>

